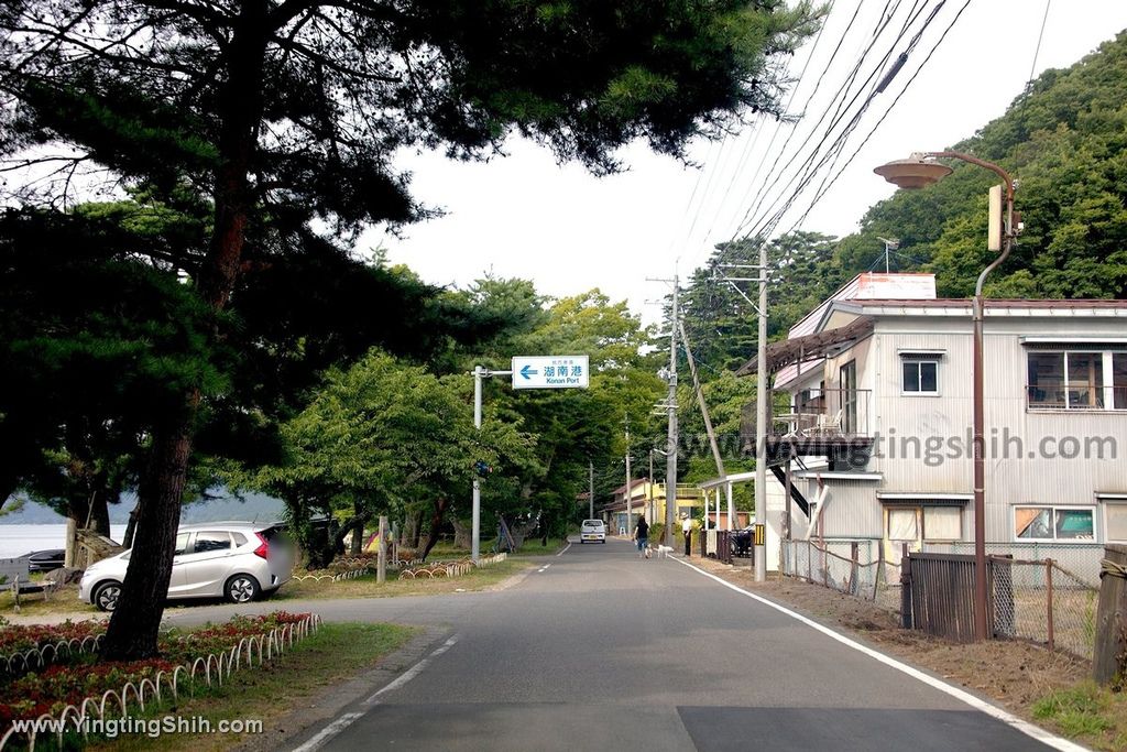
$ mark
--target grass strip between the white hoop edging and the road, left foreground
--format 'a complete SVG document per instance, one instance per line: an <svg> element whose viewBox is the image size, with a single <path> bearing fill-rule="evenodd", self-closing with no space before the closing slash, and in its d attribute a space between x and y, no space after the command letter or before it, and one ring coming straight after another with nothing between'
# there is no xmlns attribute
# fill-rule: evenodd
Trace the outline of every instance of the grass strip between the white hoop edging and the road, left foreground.
<svg viewBox="0 0 1127 752"><path fill-rule="evenodd" d="M178 706L163 707L143 717L158 720L168 716L205 718L213 729L220 720L263 722L263 734L270 734L277 723L325 688L353 678L374 665L409 640L417 629L398 625L326 623L313 635L294 645L263 666L243 669L222 687L198 691ZM199 727L202 724L196 724ZM94 750L137 750L179 752L180 750L229 750L259 734L162 734L121 735L95 742ZM267 745L269 746L269 745Z"/></svg>

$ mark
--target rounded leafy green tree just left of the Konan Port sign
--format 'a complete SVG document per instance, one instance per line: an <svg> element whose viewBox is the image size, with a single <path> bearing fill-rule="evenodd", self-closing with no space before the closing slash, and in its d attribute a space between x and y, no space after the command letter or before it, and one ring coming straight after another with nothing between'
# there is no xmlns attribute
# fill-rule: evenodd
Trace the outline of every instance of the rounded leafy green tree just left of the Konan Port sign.
<svg viewBox="0 0 1127 752"><path fill-rule="evenodd" d="M474 431L469 389L464 374L440 379L372 352L346 371L330 371L309 407L283 426L283 463L237 481L285 501L313 565L331 556L313 541L313 514L344 512L343 529L358 541L373 516L402 516L426 499L435 519L425 557L452 502L470 487L476 462L504 474L531 458L533 440L511 421L490 419Z"/></svg>

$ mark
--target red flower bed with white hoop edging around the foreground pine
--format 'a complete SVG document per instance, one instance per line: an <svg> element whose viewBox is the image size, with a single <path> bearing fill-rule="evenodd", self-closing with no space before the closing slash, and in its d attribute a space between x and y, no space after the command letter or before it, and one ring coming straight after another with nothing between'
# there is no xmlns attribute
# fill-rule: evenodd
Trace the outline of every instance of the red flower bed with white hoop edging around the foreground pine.
<svg viewBox="0 0 1127 752"><path fill-rule="evenodd" d="M94 654L60 656L55 665L0 687L0 749L12 736L15 719L124 716L131 696L143 710L147 701L160 701L162 692L175 698L185 681L222 684L223 678L243 663L251 665L256 647L260 664L318 623L314 614L275 611L233 617L190 631L166 632L160 636L159 658L98 662ZM50 643L53 636L44 634L44 639Z"/></svg>

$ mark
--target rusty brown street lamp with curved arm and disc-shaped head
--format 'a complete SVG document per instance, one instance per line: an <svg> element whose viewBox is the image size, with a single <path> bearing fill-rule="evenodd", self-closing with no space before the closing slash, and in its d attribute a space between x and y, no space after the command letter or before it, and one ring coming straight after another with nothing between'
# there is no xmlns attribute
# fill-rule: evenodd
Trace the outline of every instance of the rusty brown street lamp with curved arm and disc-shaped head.
<svg viewBox="0 0 1127 752"><path fill-rule="evenodd" d="M990 195L990 229L987 248L1001 250L975 284L975 298L971 304L974 318L974 460L975 460L975 638L987 639L990 625L986 622L986 461L985 461L985 418L983 409L983 283L986 275L997 268L1010 255L1013 239L1019 227L1014 224L1013 193L1017 185L1010 174L993 162L988 162L960 151L931 151L914 153L908 159L902 159L881 165L873 172L900 188L923 188L951 174L951 168L941 165L935 159L950 158L984 167L1002 178L1002 185L991 189ZM1002 192L1004 191L1004 197Z"/></svg>

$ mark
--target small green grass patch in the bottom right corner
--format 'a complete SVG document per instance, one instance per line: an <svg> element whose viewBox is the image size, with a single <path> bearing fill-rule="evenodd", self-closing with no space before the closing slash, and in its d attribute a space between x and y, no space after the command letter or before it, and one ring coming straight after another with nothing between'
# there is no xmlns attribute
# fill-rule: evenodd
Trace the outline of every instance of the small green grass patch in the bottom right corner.
<svg viewBox="0 0 1127 752"><path fill-rule="evenodd" d="M1127 750L1127 695L1085 681L1033 704L1033 717L1097 750Z"/></svg>

